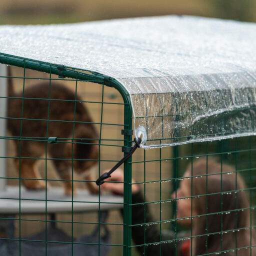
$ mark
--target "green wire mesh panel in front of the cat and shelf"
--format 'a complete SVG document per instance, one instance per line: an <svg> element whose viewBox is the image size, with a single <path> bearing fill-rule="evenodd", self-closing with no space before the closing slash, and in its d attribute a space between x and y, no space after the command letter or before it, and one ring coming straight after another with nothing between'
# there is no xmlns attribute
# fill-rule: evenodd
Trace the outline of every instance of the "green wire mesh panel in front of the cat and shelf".
<svg viewBox="0 0 256 256"><path fill-rule="evenodd" d="M0 95L12 109L1 116L8 130L1 136L8 166L0 177L2 254L26 255L32 247L34 255L127 255L127 177L124 196L95 185L130 146L121 132L131 129L125 91L82 70L10 56L0 62L13 64L10 79L1 78L14 90Z"/></svg>

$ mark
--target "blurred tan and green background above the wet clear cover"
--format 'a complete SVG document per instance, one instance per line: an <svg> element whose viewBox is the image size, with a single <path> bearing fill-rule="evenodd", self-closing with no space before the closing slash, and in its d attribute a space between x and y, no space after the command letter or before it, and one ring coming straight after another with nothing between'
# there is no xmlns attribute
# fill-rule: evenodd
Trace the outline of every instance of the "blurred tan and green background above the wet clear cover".
<svg viewBox="0 0 256 256"><path fill-rule="evenodd" d="M256 22L256 0L0 0L0 24L188 14Z"/></svg>

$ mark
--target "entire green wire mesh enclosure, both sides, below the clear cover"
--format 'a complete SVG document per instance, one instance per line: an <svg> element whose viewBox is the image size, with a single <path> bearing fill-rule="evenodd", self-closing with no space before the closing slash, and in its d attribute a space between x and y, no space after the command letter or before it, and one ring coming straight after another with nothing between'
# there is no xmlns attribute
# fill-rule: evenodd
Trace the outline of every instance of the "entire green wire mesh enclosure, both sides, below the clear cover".
<svg viewBox="0 0 256 256"><path fill-rule="evenodd" d="M86 70L7 55L1 55L0 62L12 64L9 81L19 92L0 99L20 102L19 114L7 111L1 117L7 119L9 131L9 125L17 123L17 134L1 137L7 141L1 158L8 163L7 175L1 176L6 188L0 191L0 245L5 251L11 248L15 255L24 255L25 246L34 244L48 256L61 246L67 255L255 255L254 136L138 149L123 164L123 196L100 187L92 194L95 179L132 145L126 90ZM36 97L27 95L41 82L46 90ZM62 87L53 96L56 82L73 96L66 98ZM44 115L38 114L45 103ZM37 122L44 127L41 133ZM55 123L59 130L71 132L56 135ZM93 135L77 131L90 125ZM87 151L94 154L85 155ZM31 166L35 176L26 174ZM90 175L77 171L79 166ZM57 167L64 170L61 175ZM23 184L39 187L29 190ZM78 254L79 246L83 254Z"/></svg>

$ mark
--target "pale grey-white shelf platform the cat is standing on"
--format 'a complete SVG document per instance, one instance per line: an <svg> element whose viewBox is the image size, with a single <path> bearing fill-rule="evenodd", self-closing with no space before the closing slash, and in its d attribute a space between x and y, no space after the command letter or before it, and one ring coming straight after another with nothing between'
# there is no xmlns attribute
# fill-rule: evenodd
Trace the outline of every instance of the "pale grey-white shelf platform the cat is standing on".
<svg viewBox="0 0 256 256"><path fill-rule="evenodd" d="M45 213L46 203L47 213L72 211L72 197L64 195L61 187L50 187L47 190L47 201L45 201L45 190L20 188L21 213ZM122 208L123 197L102 194L99 200L98 194L90 194L85 189L76 190L76 195L73 196L73 212L95 211L99 207L100 210ZM19 213L19 187L6 186L0 191L0 213Z"/></svg>

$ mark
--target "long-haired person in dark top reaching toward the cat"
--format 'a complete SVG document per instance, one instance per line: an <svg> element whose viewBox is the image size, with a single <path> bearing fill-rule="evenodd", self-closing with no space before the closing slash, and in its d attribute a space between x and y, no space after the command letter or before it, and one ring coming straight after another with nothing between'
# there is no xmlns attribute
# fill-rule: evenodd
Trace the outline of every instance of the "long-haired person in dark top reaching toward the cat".
<svg viewBox="0 0 256 256"><path fill-rule="evenodd" d="M135 225L132 227L132 238L136 245L140 245L136 247L140 254L256 255L248 195L243 179L234 170L233 167L210 158L207 163L206 160L195 160L189 164L179 188L176 193L171 194L171 198L176 200L177 223L192 230L182 237L170 230L161 230L160 234L158 225L145 225L144 232L143 223L154 220L147 204L145 214L144 204L139 204L144 202L139 185L132 184L132 203L138 203L132 206L132 225ZM122 182L122 170L113 172L108 181ZM101 187L123 194L123 183L105 182ZM171 240L172 242L164 242ZM149 245L144 245L148 243Z"/></svg>

